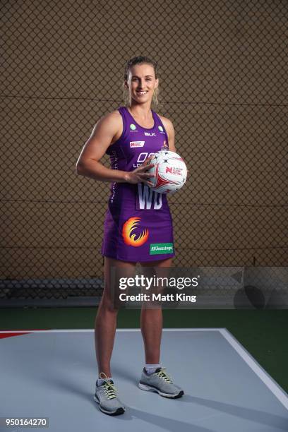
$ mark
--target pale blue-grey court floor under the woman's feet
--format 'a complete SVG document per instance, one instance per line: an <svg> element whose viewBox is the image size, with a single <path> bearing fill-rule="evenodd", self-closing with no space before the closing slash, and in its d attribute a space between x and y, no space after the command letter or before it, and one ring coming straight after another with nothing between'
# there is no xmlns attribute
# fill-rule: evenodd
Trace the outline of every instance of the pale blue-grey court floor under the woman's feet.
<svg viewBox="0 0 288 432"><path fill-rule="evenodd" d="M185 392L177 400L137 387L144 361L140 330L117 330L112 375L126 412L114 417L92 399L93 330L4 333L0 417L48 417L49 432L288 431L287 393L226 329L164 329L162 366Z"/></svg>

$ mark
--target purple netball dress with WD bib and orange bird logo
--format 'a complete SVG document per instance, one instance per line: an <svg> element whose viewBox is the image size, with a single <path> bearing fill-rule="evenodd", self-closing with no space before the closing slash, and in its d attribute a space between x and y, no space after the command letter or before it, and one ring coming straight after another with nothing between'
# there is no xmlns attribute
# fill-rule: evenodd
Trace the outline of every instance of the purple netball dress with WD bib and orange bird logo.
<svg viewBox="0 0 288 432"><path fill-rule="evenodd" d="M110 145L112 169L133 171L168 143L165 128L152 111L154 126L143 128L126 107L119 107L123 133ZM174 256L172 217L167 197L143 183L111 185L101 253L117 260L145 262Z"/></svg>

